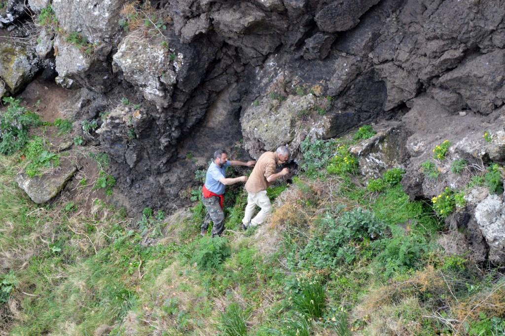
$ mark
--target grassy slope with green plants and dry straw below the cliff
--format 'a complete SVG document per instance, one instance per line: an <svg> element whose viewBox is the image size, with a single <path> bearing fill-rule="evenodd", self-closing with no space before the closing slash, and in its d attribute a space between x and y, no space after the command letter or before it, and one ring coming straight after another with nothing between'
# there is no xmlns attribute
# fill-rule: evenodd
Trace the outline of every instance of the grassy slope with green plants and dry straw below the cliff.
<svg viewBox="0 0 505 336"><path fill-rule="evenodd" d="M149 213L137 225L100 201L89 214L64 201L38 208L13 182L19 169L0 158L0 276L15 279L2 333L492 335L504 324L501 274L444 256L443 223L399 185L371 192L316 169L245 234L245 195L229 188L219 245L198 235L201 204L169 225ZM145 236L156 243L142 246ZM203 266L220 252L220 266Z"/></svg>

